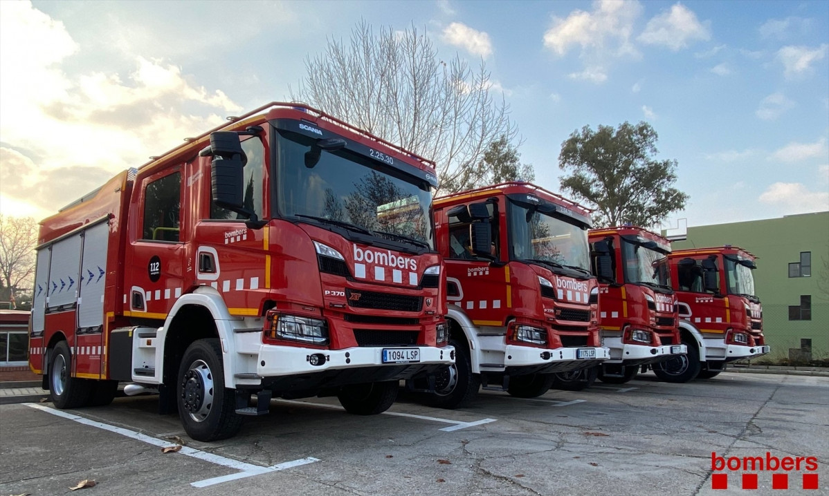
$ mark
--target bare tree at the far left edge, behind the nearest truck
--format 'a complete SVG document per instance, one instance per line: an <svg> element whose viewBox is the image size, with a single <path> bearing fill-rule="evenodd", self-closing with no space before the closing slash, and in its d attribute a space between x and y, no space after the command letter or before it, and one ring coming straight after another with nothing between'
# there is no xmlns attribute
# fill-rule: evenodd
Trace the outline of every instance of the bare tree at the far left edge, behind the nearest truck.
<svg viewBox="0 0 829 496"><path fill-rule="evenodd" d="M32 286L36 244L35 219L0 215L0 277L3 296L9 301L14 301L14 291Z"/></svg>

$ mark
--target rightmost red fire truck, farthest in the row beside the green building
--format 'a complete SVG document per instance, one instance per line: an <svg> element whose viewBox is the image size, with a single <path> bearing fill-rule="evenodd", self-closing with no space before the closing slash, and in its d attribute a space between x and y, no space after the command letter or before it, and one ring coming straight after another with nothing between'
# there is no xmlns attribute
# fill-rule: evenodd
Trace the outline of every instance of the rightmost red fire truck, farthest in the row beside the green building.
<svg viewBox="0 0 829 496"><path fill-rule="evenodd" d="M729 362L768 353L763 308L754 295L755 259L727 245L677 250L668 256L688 354L654 365L660 378L672 383L712 378Z"/></svg>

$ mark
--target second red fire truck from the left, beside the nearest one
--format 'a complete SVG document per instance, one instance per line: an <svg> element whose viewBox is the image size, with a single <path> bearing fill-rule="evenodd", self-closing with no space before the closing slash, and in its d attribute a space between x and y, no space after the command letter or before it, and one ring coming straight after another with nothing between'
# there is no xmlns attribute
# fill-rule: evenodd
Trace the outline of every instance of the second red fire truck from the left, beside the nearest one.
<svg viewBox="0 0 829 496"><path fill-rule="evenodd" d="M458 407L481 385L536 397L553 373L608 358L589 270L589 210L511 182L435 200L434 216L456 363L439 374L429 402Z"/></svg>

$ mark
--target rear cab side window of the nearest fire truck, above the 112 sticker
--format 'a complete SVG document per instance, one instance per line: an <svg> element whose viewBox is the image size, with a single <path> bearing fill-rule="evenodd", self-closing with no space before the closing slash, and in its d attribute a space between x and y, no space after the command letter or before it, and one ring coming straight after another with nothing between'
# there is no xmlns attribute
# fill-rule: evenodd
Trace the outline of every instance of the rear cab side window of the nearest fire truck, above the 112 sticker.
<svg viewBox="0 0 829 496"><path fill-rule="evenodd" d="M179 240L181 198L181 172L174 172L147 185L144 190L143 239Z"/></svg>

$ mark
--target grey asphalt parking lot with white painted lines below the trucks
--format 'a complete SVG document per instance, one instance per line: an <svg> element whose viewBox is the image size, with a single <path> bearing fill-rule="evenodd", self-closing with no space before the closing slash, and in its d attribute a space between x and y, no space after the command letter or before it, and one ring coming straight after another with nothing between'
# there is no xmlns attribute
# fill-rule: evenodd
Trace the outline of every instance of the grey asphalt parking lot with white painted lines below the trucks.
<svg viewBox="0 0 829 496"><path fill-rule="evenodd" d="M336 398L272 402L239 436L191 441L157 399L57 411L0 406L0 494L745 494L712 489L711 457L815 456L829 494L829 378L722 373L687 384L652 374L536 399L484 391L472 407L424 407L401 391L356 417ZM186 443L178 452L162 453ZM778 470L779 471L779 470ZM734 474L739 474L735 472ZM758 491L773 491L759 472ZM802 492L802 471L789 473ZM773 494L780 494L774 491Z"/></svg>

